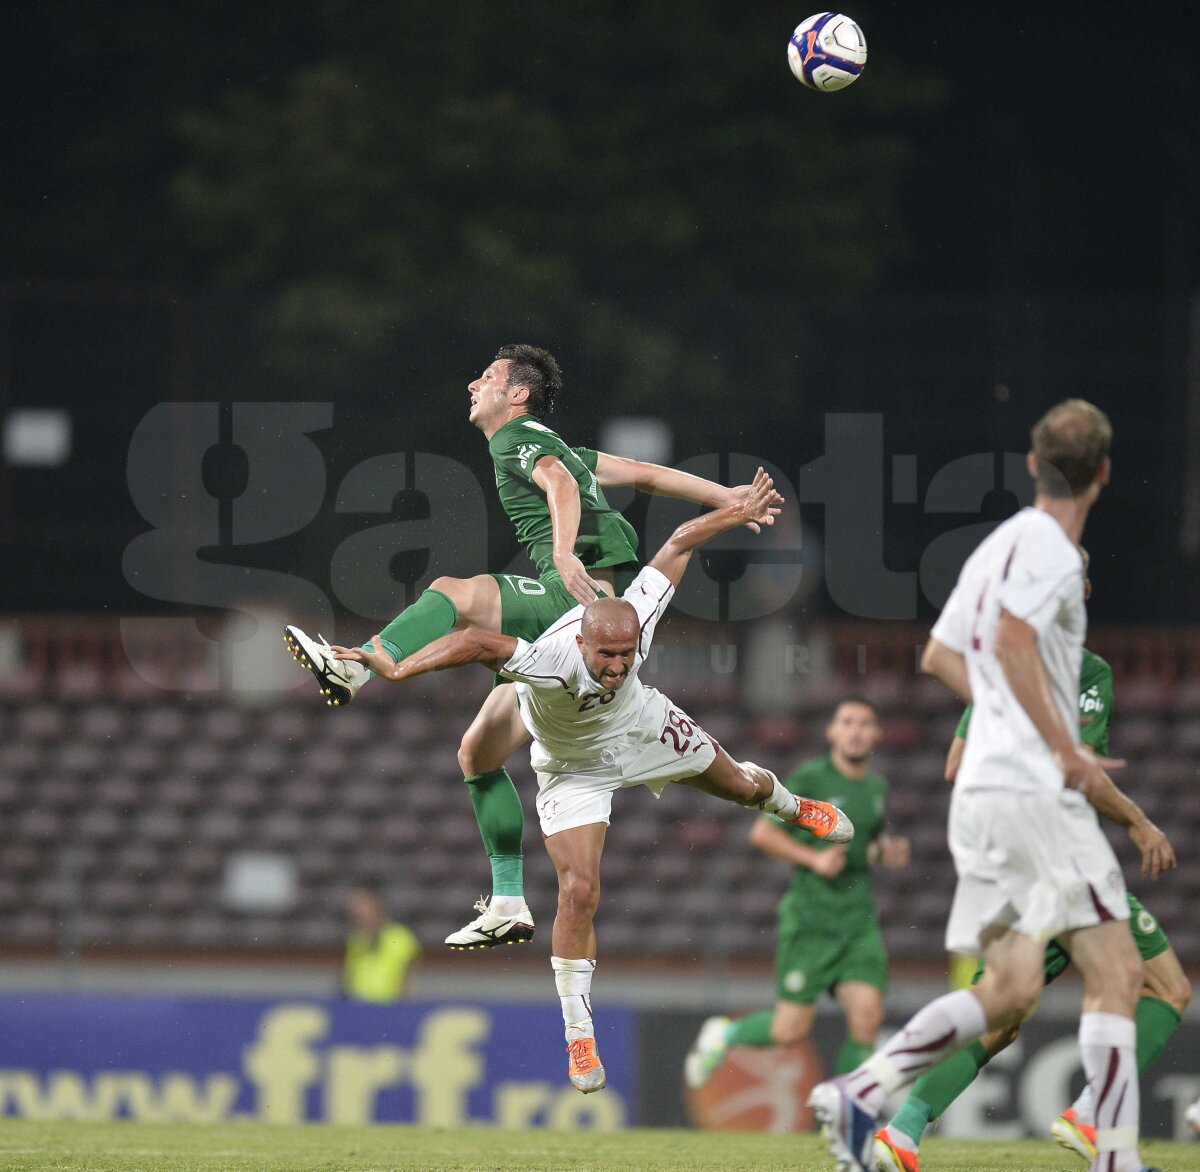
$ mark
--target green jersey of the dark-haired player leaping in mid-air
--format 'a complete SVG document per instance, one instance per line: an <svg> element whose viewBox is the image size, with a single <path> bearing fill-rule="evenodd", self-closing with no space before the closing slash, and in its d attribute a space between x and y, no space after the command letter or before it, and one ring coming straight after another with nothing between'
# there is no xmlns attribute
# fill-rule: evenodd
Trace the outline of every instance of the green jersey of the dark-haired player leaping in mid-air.
<svg viewBox="0 0 1200 1172"><path fill-rule="evenodd" d="M496 465L500 505L541 577L554 570L554 533L546 494L533 482L534 464L557 456L580 486L580 531L575 555L588 569L637 563L637 533L605 499L595 476L598 453L568 447L557 432L532 415L509 420L487 444Z"/></svg>

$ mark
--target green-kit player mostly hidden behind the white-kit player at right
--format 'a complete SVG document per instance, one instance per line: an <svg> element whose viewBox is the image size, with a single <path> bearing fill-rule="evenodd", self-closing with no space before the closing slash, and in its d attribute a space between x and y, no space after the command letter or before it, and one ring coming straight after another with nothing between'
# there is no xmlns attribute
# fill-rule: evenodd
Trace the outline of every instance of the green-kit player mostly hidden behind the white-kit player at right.
<svg viewBox="0 0 1200 1172"><path fill-rule="evenodd" d="M1085 593L1090 587L1085 585ZM946 758L946 780L953 782L962 759L971 709L959 721ZM1099 757L1109 756L1109 728L1112 723L1112 668L1099 655L1084 648L1079 675L1079 723L1085 745ZM1141 809L1116 786L1093 798L1092 804L1108 818L1126 827L1142 858L1142 873L1157 877L1175 866L1175 854L1163 833ZM1192 988L1175 949L1151 915L1133 896L1129 900L1129 931L1141 955L1144 978L1134 1017L1138 1028L1138 1070L1144 1071L1163 1052L1178 1028ZM1045 955L1045 982L1049 985L1070 963L1066 950L1051 940ZM983 974L976 969L974 980ZM889 1172L919 1172L917 1150L925 1129L974 1082L979 1071L1016 1039L1018 1030L998 1029L934 1066L913 1084L892 1120L876 1132L876 1166ZM1050 1132L1061 1147L1085 1160L1096 1158L1096 1126L1091 1087L1051 1124Z"/></svg>

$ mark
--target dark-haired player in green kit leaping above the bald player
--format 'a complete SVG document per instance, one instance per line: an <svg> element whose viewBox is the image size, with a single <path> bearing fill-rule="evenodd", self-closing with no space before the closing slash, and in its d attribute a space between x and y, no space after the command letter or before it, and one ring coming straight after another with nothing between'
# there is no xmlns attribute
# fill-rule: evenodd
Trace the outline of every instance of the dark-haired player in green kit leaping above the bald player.
<svg viewBox="0 0 1200 1172"><path fill-rule="evenodd" d="M461 627L533 642L576 603L594 602L601 590L619 595L640 569L637 534L610 507L605 488L628 486L712 509L744 499L744 485L725 488L673 468L568 446L542 422L562 389L554 356L524 344L502 347L468 385L468 417L487 438L500 505L539 576L434 579L379 632L384 649L397 662ZM284 641L332 707L352 701L371 678L361 665L335 659L328 642L313 639L298 626L284 630ZM370 641L365 645L370 649ZM492 898L490 904L481 900L479 916L446 937L446 944L456 949L533 937L523 885L524 816L504 768L523 743L524 729L515 727L509 705L493 699L485 702L458 750L492 866Z"/></svg>

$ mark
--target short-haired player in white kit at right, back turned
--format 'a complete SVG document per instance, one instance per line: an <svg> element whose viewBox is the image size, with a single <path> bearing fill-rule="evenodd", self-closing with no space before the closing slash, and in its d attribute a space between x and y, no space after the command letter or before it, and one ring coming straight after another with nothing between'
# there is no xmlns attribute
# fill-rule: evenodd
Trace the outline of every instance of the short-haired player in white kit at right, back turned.
<svg viewBox="0 0 1200 1172"><path fill-rule="evenodd" d="M923 654L924 671L973 703L980 722L950 800L958 886L946 946L982 952L988 968L978 985L926 1005L857 1070L814 1089L810 1105L848 1168L893 1168L874 1144L888 1095L1032 1011L1051 937L1084 976L1092 1167L1142 1167L1133 1023L1141 962L1122 922L1129 912L1120 866L1086 800L1103 769L1079 743L1076 714L1087 627L1078 545L1109 480L1111 435L1104 413L1082 399L1060 403L1034 426L1033 506L967 559Z"/></svg>

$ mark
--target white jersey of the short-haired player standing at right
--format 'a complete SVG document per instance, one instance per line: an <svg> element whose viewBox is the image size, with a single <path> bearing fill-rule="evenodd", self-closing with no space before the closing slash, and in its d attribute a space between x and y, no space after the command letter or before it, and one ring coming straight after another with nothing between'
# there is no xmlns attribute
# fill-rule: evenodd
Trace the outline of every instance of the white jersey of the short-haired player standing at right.
<svg viewBox="0 0 1200 1172"><path fill-rule="evenodd" d="M1055 704L1078 741L1087 633L1084 560L1062 525L1040 509L1022 509L967 558L932 633L966 657L971 678L971 735L955 788L1057 792L1062 770L996 659L1001 609L1037 631Z"/></svg>

